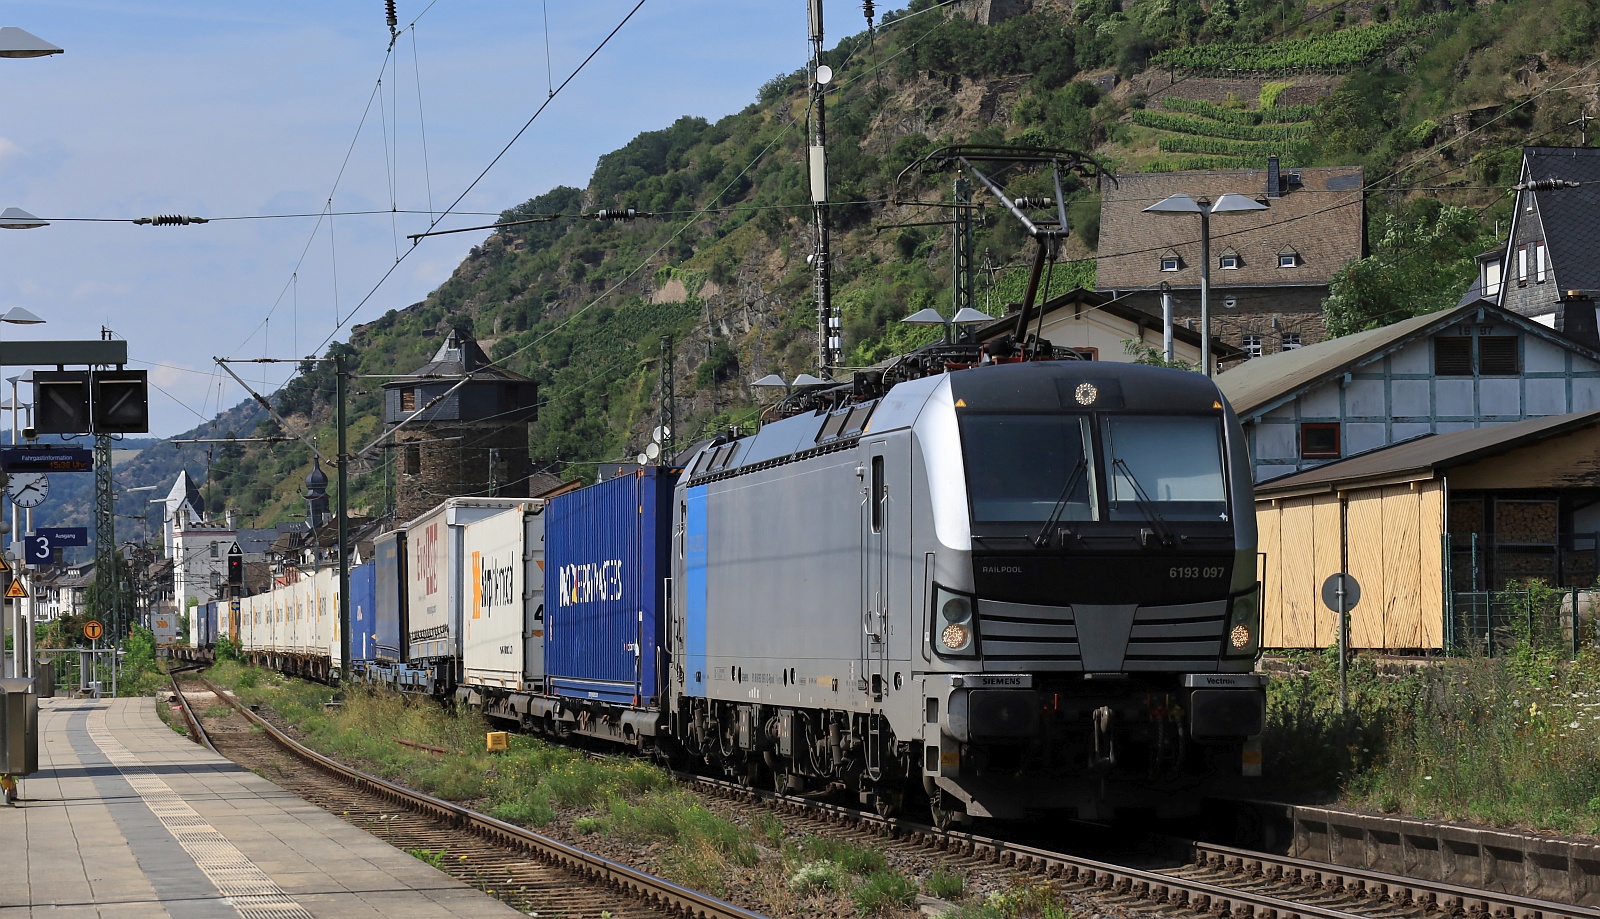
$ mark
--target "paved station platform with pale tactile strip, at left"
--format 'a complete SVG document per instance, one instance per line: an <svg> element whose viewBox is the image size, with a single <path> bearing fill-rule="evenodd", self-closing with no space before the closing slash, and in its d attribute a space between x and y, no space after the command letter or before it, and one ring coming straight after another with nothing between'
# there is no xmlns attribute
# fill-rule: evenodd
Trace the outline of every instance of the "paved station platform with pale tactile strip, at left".
<svg viewBox="0 0 1600 919"><path fill-rule="evenodd" d="M42 700L0 919L520 916L190 743L154 698Z"/></svg>

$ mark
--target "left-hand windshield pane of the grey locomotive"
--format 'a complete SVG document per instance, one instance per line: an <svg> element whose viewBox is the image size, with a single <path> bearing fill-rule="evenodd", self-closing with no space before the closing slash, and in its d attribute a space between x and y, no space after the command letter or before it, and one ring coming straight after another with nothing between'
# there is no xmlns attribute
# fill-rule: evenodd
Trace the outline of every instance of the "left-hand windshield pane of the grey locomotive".
<svg viewBox="0 0 1600 919"><path fill-rule="evenodd" d="M974 522L1096 519L1088 418L963 415L962 440Z"/></svg>

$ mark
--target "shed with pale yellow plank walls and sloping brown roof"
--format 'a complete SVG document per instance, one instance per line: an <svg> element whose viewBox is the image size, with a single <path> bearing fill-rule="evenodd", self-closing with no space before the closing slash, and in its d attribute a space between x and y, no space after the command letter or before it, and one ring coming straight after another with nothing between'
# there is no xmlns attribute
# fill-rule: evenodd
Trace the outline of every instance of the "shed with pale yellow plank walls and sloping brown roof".
<svg viewBox="0 0 1600 919"><path fill-rule="evenodd" d="M1440 650L1464 592L1595 581L1600 410L1432 434L1256 487L1262 644L1322 648L1322 583L1362 588L1350 647Z"/></svg>

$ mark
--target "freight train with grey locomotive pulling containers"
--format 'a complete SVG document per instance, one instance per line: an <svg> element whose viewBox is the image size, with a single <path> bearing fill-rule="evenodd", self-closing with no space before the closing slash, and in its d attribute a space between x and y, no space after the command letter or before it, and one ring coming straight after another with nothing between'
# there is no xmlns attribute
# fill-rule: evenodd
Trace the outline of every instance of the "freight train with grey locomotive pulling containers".
<svg viewBox="0 0 1600 919"><path fill-rule="evenodd" d="M1024 360L821 395L682 468L386 535L352 669L941 825L1192 812L1248 772L1251 472L1208 378ZM237 634L334 671L336 608L318 575Z"/></svg>

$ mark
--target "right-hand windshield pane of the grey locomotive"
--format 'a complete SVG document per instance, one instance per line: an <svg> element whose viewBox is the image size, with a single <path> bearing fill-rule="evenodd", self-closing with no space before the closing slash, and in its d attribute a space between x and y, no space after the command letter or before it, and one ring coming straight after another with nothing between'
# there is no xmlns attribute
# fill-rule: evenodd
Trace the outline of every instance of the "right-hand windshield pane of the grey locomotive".
<svg viewBox="0 0 1600 919"><path fill-rule="evenodd" d="M1226 520L1222 429L1216 418L1106 418L1112 520ZM1144 504L1141 508L1141 504Z"/></svg>

